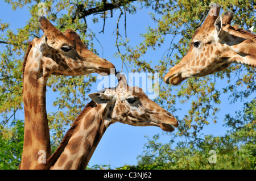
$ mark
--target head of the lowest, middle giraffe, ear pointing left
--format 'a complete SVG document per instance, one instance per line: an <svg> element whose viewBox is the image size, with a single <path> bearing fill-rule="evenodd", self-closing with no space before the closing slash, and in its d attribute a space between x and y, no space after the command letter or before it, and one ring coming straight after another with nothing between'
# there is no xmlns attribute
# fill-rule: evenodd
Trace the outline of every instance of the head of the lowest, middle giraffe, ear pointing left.
<svg viewBox="0 0 256 181"><path fill-rule="evenodd" d="M97 104L108 104L106 115L110 124L118 121L134 126L156 126L163 131L174 131L179 125L170 112L150 100L142 89L128 86L125 77L121 77L114 89L89 94L89 97Z"/></svg>

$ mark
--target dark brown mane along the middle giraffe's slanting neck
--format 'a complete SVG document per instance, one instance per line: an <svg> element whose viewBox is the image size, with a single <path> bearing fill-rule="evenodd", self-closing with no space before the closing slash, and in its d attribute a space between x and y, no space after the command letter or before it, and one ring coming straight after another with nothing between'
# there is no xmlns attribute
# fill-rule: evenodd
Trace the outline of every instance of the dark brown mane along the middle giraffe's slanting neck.
<svg viewBox="0 0 256 181"><path fill-rule="evenodd" d="M44 166L44 169L49 169L54 163L57 161L57 158L59 158L59 155L63 152L65 146L67 146L69 139L73 135L76 128L80 125L80 121L82 117L84 117L93 107L96 106L96 103L90 101L82 110L80 115L75 119L75 121L72 124L72 127L68 129L67 133L65 134L63 141L60 142L59 147L55 150L55 152L47 159L47 164Z"/></svg>

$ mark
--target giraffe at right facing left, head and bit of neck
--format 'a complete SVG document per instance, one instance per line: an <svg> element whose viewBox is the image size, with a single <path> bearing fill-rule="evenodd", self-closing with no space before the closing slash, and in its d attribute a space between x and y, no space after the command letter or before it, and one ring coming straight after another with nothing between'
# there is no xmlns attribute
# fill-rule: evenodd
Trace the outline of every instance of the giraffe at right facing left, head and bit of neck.
<svg viewBox="0 0 256 181"><path fill-rule="evenodd" d="M203 25L195 31L188 53L164 76L164 82L179 85L189 77L222 71L232 63L256 67L256 35L253 27L242 30L230 25L233 12L218 16L214 3Z"/></svg>

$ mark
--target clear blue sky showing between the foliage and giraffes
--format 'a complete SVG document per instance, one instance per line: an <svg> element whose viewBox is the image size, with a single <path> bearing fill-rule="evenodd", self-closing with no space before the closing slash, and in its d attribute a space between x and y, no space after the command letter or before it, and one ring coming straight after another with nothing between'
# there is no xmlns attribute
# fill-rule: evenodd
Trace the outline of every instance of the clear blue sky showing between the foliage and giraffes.
<svg viewBox="0 0 256 181"><path fill-rule="evenodd" d="M145 33L148 26L155 26L150 19L148 12L150 12L150 10L139 10L134 15L127 15L127 37L130 39L130 45L138 45L138 43L140 43L142 40L142 37L139 35ZM96 35L103 49L97 41L94 41L94 45L98 49L100 57L106 58L115 65L117 70L121 70L121 59L114 57L114 53L117 52L117 48L114 46L116 35L115 32L113 33L113 31L116 27L118 15L119 14L116 12L113 18L106 19L105 33L97 33ZM12 11L11 5L8 5L3 1L0 2L0 19L2 22L10 23L10 27L12 29L24 27L29 16L30 13L27 11L26 7L23 7L21 10L16 9L16 11ZM120 31L124 30L123 18L124 16L122 16L119 23ZM94 32L100 32L102 30L103 22L92 24L90 23L90 16L86 20L89 24L90 30ZM122 35L124 34L122 33ZM148 62L153 61L155 64L157 64L164 51L167 49L164 48L164 46L169 47L170 42L168 42L168 40L166 42L167 43L161 48L156 48L156 50L148 50L148 53L144 57L145 60L148 60ZM0 50L1 48L2 45L0 44ZM127 75L125 67L123 68L123 73L126 73ZM90 93L97 91L97 83ZM225 87L226 81L222 80L217 82L217 86ZM177 86L177 88L179 88L179 86ZM56 109L52 106L52 100L55 99L57 92L52 92L51 89L47 90L47 112L50 112ZM222 103L218 105L221 109L217 115L218 121L216 124L210 122L210 125L204 128L205 134L213 134L214 136L224 134L226 128L222 126L222 120L224 119L225 114L230 113L230 115L234 115L235 111L240 110L243 107L243 103L229 104L227 97L228 96L226 95L221 95ZM251 98L252 96L250 96L247 100L250 100ZM184 105L177 103L176 106L182 108L182 110L178 111L177 113L179 113L180 117L183 117L183 115L187 113L190 104ZM19 119L23 119L22 112L19 112L18 116ZM112 168L114 168L123 166L125 164L136 165L138 161L137 156L142 153L143 146L147 142L147 138L144 136L151 138L155 134L161 134L162 136L160 137L160 141L168 142L170 137L172 137L176 132L177 131L170 134L164 134L162 129L158 127L132 127L130 125L115 123L110 125L110 127L106 130L100 144L89 162L89 166L110 164Z"/></svg>

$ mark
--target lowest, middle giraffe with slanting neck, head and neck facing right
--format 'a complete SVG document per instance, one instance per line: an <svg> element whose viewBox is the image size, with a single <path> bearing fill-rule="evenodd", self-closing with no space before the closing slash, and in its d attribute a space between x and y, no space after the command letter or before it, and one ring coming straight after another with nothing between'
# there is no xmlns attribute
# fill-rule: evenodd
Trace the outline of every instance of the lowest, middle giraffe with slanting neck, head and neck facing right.
<svg viewBox="0 0 256 181"><path fill-rule="evenodd" d="M167 132L178 127L170 112L150 100L139 87L128 86L126 78L121 76L116 87L89 94L92 101L74 121L43 169L85 169L106 129L116 122L156 126Z"/></svg>

